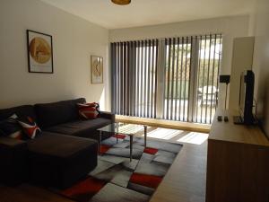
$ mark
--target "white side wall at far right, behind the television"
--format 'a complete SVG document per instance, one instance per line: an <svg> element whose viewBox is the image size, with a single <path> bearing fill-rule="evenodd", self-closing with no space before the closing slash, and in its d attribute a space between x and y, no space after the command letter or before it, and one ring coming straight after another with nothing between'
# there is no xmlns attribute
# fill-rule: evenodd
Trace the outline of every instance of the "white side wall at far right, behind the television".
<svg viewBox="0 0 269 202"><path fill-rule="evenodd" d="M253 70L257 115L269 136L269 1L257 0Z"/></svg>

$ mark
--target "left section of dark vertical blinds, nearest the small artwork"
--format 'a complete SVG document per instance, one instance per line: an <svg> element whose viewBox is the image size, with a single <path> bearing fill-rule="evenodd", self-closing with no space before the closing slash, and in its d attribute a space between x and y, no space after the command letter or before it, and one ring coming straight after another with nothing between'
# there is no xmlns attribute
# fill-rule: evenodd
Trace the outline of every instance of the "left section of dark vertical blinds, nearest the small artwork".
<svg viewBox="0 0 269 202"><path fill-rule="evenodd" d="M111 43L112 111L156 118L158 40Z"/></svg>

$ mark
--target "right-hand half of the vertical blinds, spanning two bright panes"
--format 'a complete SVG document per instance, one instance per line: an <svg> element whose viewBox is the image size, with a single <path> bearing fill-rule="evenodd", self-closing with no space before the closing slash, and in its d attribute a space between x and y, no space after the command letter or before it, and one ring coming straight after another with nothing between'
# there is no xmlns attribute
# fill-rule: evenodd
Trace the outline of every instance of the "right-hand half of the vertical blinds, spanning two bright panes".
<svg viewBox="0 0 269 202"><path fill-rule="evenodd" d="M162 119L212 123L217 106L221 34L165 40Z"/></svg>

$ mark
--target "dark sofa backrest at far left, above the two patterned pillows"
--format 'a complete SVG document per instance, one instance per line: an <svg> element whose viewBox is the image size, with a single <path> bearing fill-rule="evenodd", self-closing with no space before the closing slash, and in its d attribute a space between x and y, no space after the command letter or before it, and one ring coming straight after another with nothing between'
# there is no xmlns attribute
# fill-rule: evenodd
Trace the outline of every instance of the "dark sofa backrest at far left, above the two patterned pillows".
<svg viewBox="0 0 269 202"><path fill-rule="evenodd" d="M34 120L37 119L32 105L22 105L19 107L0 110L0 120L7 119L13 114L16 114L18 117L30 116Z"/></svg>

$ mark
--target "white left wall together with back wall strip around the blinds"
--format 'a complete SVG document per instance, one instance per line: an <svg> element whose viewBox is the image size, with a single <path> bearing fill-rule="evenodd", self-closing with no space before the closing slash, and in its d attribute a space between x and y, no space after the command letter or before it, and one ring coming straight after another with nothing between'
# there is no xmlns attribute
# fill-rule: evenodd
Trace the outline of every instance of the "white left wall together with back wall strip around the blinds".
<svg viewBox="0 0 269 202"><path fill-rule="evenodd" d="M232 40L247 36L249 17L223 17L108 30L36 0L0 2L0 109L26 103L86 97L110 110L109 41L222 32L221 74L230 74ZM53 36L53 75L28 73L26 30ZM104 57L104 84L91 84L90 56ZM224 89L221 86L221 90ZM223 99L221 98L221 101Z"/></svg>

